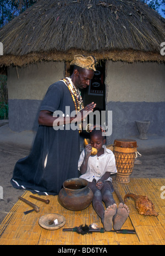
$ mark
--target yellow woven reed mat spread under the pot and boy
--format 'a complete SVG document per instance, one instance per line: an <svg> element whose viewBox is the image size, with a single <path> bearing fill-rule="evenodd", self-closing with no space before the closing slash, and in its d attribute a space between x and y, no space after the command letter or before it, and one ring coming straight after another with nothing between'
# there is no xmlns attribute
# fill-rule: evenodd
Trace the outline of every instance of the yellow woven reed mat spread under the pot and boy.
<svg viewBox="0 0 165 256"><path fill-rule="evenodd" d="M62 229L92 223L102 227L100 218L96 215L92 204L83 211L74 212L63 208L59 204L57 196L39 196L50 200L50 204L46 205L44 202L30 198L31 192L26 191L23 197L40 207L40 212L34 211L24 215L24 211L31 210L31 207L19 200L0 225L0 244L165 244L165 199L163 200L163 196L161 198L161 193L163 195L162 186L165 186L165 179L133 178L130 179L129 184L118 183L122 198L127 193L147 195L159 213L157 217L139 215L135 209L134 201L129 198L127 205L130 208L130 218L127 219L122 228L135 228L136 234L105 232L85 234L84 236L76 232L64 232ZM115 192L113 195L118 205L119 201ZM66 218L65 225L54 231L40 227L38 220L47 213L63 215Z"/></svg>

